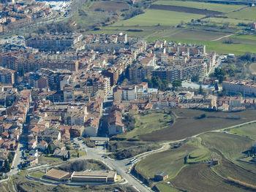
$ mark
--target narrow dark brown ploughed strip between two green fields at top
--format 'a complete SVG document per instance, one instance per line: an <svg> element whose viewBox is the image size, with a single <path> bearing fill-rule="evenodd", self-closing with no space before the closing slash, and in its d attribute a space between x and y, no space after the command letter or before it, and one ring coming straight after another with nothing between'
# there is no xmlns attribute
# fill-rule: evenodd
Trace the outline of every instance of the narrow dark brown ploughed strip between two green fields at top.
<svg viewBox="0 0 256 192"><path fill-rule="evenodd" d="M190 8L190 7L182 7L182 6L175 6L175 5L162 5L162 4L152 4L150 9L161 9L167 11L175 11L175 12L188 12L193 14L200 14L200 15L221 15L222 12L206 10L206 9L197 9L197 8Z"/></svg>

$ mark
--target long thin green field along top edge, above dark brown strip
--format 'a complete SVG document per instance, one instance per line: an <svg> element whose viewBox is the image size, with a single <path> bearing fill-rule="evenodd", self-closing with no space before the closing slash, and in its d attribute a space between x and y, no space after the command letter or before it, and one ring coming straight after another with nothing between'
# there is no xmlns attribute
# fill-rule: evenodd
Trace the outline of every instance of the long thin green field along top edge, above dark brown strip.
<svg viewBox="0 0 256 192"><path fill-rule="evenodd" d="M154 4L164 4L164 5L174 5L182 7L192 7L197 9L208 9L218 12L232 12L237 9L245 7L244 5L234 5L234 4L212 4L212 3L203 3L195 1L156 1Z"/></svg>

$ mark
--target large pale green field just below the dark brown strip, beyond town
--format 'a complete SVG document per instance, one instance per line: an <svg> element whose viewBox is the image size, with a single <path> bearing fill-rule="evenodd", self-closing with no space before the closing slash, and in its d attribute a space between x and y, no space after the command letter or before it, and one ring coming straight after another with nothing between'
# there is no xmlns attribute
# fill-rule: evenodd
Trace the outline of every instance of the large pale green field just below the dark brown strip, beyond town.
<svg viewBox="0 0 256 192"><path fill-rule="evenodd" d="M176 26L181 21L188 22L192 19L203 18L204 15L186 12L173 12L165 10L146 9L146 12L128 20L120 20L113 26Z"/></svg>

